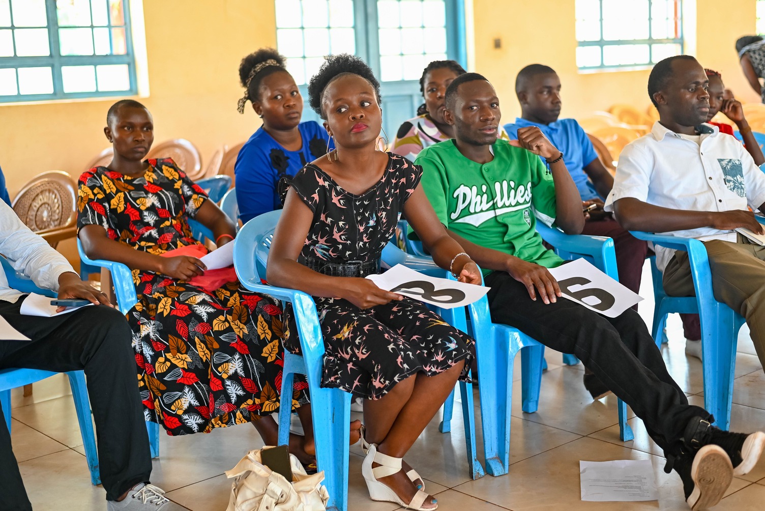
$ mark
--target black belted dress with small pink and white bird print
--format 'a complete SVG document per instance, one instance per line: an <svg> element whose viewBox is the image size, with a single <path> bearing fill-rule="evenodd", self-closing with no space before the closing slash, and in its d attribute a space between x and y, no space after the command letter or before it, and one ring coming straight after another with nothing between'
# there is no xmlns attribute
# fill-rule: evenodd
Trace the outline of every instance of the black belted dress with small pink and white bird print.
<svg viewBox="0 0 765 511"><path fill-rule="evenodd" d="M343 190L329 174L308 164L291 187L314 213L298 261L376 261L396 230L404 203L422 177L422 168L389 153L380 180L363 194ZM435 376L465 360L468 381L473 339L429 311L421 301L404 298L360 309L342 298L314 298L324 335L321 386L339 387L379 399L415 373ZM299 353L291 310L285 349Z"/></svg>

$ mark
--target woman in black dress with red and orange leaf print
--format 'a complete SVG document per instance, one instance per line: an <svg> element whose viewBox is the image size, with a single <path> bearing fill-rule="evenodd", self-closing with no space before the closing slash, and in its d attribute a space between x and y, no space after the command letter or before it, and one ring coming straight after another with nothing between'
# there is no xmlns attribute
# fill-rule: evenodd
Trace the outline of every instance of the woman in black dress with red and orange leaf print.
<svg viewBox="0 0 765 511"><path fill-rule="evenodd" d="M198 256L206 249L187 218L210 227L218 246L233 241L234 226L172 160L142 161L153 141L148 110L123 100L107 122L114 159L80 176L77 227L90 257L132 269L138 303L127 318L146 419L168 435L253 422L275 444L275 421L258 419L279 405L279 301L247 291L233 269L203 271ZM293 406L310 426L306 388L295 381ZM292 451L310 463L302 438L293 440Z"/></svg>

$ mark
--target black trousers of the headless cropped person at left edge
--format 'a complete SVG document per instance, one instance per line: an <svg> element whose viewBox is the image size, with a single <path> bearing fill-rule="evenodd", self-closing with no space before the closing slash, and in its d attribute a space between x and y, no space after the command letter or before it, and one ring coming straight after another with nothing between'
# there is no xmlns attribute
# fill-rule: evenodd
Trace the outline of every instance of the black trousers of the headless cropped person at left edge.
<svg viewBox="0 0 765 511"><path fill-rule="evenodd" d="M24 367L62 373L84 369L96 421L101 481L106 500L116 500L135 484L148 481L151 474L130 327L119 311L104 305L57 317L22 316L18 313L22 300L15 304L0 301L0 315L31 340L0 340L0 369ZM0 509L32 509L2 412Z"/></svg>

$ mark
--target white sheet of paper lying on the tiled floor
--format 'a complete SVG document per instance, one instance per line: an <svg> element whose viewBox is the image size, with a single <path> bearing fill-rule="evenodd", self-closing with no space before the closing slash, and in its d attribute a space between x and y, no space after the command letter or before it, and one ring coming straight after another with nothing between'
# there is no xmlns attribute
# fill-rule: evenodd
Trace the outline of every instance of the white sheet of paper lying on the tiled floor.
<svg viewBox="0 0 765 511"><path fill-rule="evenodd" d="M580 461L581 500L640 502L658 500L650 460Z"/></svg>

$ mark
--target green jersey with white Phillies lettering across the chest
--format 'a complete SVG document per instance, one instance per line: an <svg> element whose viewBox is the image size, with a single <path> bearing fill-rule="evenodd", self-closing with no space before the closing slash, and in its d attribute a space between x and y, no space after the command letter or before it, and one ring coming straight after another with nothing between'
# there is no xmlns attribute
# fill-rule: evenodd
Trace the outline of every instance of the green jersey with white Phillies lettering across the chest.
<svg viewBox="0 0 765 511"><path fill-rule="evenodd" d="M539 156L504 140L486 164L465 158L453 140L423 149L422 187L438 220L476 245L555 268L562 263L542 245L536 218L555 223L555 185ZM486 274L488 272L484 272Z"/></svg>

